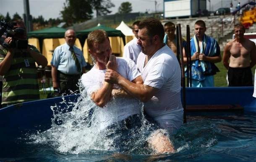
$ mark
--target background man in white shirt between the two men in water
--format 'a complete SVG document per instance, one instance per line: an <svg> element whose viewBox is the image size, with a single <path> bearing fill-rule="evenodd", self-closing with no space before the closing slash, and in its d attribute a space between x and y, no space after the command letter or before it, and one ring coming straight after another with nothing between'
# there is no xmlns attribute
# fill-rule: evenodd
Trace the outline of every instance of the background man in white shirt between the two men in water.
<svg viewBox="0 0 256 162"><path fill-rule="evenodd" d="M141 52L141 46L137 44L139 23L140 21L133 23L133 33L135 37L123 47L123 57L132 59L135 64L137 63L138 54Z"/></svg>

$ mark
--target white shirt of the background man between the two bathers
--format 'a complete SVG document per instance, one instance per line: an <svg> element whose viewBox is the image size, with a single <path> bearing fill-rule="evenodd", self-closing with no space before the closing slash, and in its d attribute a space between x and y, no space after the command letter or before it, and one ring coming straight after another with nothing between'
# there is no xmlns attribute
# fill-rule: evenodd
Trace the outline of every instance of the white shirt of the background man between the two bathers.
<svg viewBox="0 0 256 162"><path fill-rule="evenodd" d="M125 44L123 48L123 57L132 59L135 64L137 63L138 54L141 52L141 46L137 44L136 37Z"/></svg>

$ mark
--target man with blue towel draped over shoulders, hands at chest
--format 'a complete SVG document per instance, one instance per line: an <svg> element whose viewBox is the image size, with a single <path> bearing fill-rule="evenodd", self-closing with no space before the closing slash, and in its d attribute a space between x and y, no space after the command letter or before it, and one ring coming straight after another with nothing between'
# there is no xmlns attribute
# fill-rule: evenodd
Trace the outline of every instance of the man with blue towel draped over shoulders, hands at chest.
<svg viewBox="0 0 256 162"><path fill-rule="evenodd" d="M195 35L191 44L192 87L214 87L214 75L219 69L214 63L221 62L219 45L215 39L206 36L206 25L199 20L195 23ZM184 62L187 62L183 50Z"/></svg>

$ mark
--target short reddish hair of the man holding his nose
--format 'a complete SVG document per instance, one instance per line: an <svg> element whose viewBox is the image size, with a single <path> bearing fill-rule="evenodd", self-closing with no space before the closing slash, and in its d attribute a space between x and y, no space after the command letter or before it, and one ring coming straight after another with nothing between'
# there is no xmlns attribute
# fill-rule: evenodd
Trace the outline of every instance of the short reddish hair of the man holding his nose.
<svg viewBox="0 0 256 162"><path fill-rule="evenodd" d="M87 45L89 49L93 48L94 43L103 43L105 39L108 39L107 32L104 30L95 30L88 34Z"/></svg>

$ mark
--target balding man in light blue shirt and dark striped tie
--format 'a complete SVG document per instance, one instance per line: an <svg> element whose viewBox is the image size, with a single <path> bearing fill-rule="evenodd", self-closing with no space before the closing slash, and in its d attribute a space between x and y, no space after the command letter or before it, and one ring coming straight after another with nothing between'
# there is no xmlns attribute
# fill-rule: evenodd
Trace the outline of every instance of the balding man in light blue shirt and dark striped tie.
<svg viewBox="0 0 256 162"><path fill-rule="evenodd" d="M60 93L76 92L78 79L85 73L86 62L83 52L74 46L76 33L73 30L65 32L66 43L58 46L52 56L52 85L60 89Z"/></svg>

